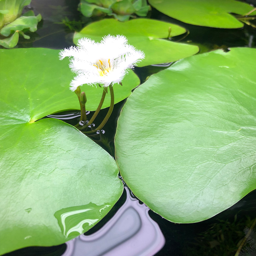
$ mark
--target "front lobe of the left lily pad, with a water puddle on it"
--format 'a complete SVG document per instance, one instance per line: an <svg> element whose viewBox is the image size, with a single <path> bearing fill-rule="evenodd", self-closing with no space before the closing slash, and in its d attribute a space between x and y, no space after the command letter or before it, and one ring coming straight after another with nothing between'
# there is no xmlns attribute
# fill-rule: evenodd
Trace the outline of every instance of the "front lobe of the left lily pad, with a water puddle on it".
<svg viewBox="0 0 256 256"><path fill-rule="evenodd" d="M123 186L114 159L76 128L56 119L4 121L1 254L62 244L92 228L117 202Z"/></svg>

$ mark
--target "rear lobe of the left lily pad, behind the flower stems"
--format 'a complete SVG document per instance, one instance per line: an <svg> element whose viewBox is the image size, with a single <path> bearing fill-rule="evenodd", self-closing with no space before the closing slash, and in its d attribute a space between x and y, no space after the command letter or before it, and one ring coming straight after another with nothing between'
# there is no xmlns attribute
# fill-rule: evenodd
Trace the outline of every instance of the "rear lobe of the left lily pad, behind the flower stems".
<svg viewBox="0 0 256 256"><path fill-rule="evenodd" d="M12 97L17 97L15 100L23 104L20 112L31 111L29 118L32 121L64 109L80 109L76 94L69 90L69 83L75 74L68 67L68 58L59 60L59 52L46 48L20 48L0 52L1 85L11 86L15 90L19 87L24 89L19 92L20 95ZM122 83L123 86L114 85L115 103L127 98L132 89L140 84L140 80L131 70ZM103 88L84 84L81 90L86 92L86 110L96 110ZM103 108L110 106L108 94ZM22 118L22 115L18 118Z"/></svg>

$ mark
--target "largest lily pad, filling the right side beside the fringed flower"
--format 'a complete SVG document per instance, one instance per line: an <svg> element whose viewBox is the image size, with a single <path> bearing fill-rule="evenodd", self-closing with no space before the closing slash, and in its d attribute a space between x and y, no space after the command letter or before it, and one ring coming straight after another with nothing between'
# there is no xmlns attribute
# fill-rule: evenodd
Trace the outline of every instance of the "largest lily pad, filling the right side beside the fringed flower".
<svg viewBox="0 0 256 256"><path fill-rule="evenodd" d="M256 188L256 49L191 56L122 109L116 161L132 192L178 223L206 220Z"/></svg>

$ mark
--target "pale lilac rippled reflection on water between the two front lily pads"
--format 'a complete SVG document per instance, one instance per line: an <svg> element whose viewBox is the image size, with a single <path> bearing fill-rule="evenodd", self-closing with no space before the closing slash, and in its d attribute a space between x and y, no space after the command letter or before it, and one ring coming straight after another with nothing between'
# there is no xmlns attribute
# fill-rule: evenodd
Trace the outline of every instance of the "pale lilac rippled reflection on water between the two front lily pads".
<svg viewBox="0 0 256 256"><path fill-rule="evenodd" d="M128 188L125 203L100 230L68 241L62 256L153 256L165 239L149 208L133 198Z"/></svg>

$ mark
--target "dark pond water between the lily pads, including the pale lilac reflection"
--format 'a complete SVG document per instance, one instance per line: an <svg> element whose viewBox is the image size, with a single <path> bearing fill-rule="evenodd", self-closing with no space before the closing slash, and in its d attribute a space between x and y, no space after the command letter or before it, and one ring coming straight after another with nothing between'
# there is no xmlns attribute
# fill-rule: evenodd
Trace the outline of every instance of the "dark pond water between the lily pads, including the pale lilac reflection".
<svg viewBox="0 0 256 256"><path fill-rule="evenodd" d="M255 1L246 2L256 4ZM36 33L31 33L31 39L22 40L21 38L18 47L63 49L71 46L72 29L80 30L85 24L95 20L84 18L76 10L78 3L77 0L32 0L28 8L32 8L36 14L41 13L43 20L39 23ZM171 19L154 9L149 16L188 29L190 33L186 38L177 36L172 40L197 44L201 48L200 53L218 48L228 50L229 47L237 46L256 47L256 30L248 25L242 29L192 26ZM167 68L165 66L136 68L135 72L143 83L149 75ZM116 122L124 103L125 100L115 105L110 119L103 128L105 133L91 136L91 139L100 144L112 156L114 156ZM106 115L107 111L108 109L100 111L100 115L95 120L96 125L100 124L100 120L103 119L102 117ZM92 114L93 112L88 113L88 116ZM47 118L50 117L76 124L79 113L69 111ZM209 220L193 224L175 224L149 210L125 187L123 195L107 216L85 235L81 235L67 244L52 247L28 247L5 255L229 256L235 255L237 244L244 237L244 228L250 226L255 217L256 190Z"/></svg>

